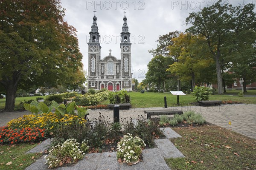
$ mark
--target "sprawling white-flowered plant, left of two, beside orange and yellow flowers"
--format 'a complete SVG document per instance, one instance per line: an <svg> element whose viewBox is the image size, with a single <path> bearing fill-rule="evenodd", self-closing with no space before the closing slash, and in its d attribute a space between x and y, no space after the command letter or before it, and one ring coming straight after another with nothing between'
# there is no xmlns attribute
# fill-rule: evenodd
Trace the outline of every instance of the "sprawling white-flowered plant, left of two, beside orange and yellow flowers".
<svg viewBox="0 0 256 170"><path fill-rule="evenodd" d="M49 155L44 157L45 164L49 165L48 168L55 168L63 164L76 163L83 159L88 149L89 146L85 140L80 145L76 139L67 139L63 144L58 143L52 146Z"/></svg>

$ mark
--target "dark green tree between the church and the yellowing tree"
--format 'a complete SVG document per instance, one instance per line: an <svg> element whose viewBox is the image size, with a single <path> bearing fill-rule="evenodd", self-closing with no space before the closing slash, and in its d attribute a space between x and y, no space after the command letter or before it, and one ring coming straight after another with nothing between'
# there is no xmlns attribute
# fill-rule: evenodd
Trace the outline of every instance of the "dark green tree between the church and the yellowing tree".
<svg viewBox="0 0 256 170"><path fill-rule="evenodd" d="M160 91L161 83L164 88L164 80L170 76L169 72L166 72L166 69L173 63L173 59L170 57L163 57L161 55L155 56L148 63L148 72L146 73L147 82L155 82L157 84L157 89Z"/></svg>

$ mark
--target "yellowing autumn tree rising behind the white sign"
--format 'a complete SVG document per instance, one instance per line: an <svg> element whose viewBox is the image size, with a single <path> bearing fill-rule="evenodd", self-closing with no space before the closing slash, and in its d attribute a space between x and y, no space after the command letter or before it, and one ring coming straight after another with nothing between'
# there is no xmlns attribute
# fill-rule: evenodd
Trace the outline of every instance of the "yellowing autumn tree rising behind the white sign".
<svg viewBox="0 0 256 170"><path fill-rule="evenodd" d="M183 81L192 81L192 89L195 85L207 82L204 75L212 75L214 70L210 65L214 63L210 58L209 51L206 50L204 38L191 34L180 33L177 38L173 38L173 45L169 46L170 54L179 55L177 62L174 62L167 71L176 74ZM197 80L197 82L196 82ZM208 79L209 80L209 79Z"/></svg>

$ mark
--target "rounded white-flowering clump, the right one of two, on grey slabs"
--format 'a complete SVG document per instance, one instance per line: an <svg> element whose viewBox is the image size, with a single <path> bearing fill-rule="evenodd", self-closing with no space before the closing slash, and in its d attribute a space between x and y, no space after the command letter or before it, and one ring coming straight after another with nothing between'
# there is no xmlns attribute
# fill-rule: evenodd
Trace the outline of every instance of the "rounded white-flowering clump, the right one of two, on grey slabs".
<svg viewBox="0 0 256 170"><path fill-rule="evenodd" d="M133 137L130 133L127 133L117 144L116 159L123 163L136 163L139 161L142 148L145 145L144 141L138 136Z"/></svg>

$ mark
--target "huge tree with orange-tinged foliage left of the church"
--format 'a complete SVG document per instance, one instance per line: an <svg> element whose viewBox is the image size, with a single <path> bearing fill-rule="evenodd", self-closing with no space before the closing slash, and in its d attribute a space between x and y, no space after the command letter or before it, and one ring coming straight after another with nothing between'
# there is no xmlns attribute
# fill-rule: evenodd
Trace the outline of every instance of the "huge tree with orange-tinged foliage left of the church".
<svg viewBox="0 0 256 170"><path fill-rule="evenodd" d="M64 84L82 55L59 0L5 0L0 11L0 83L12 111L17 88Z"/></svg>

